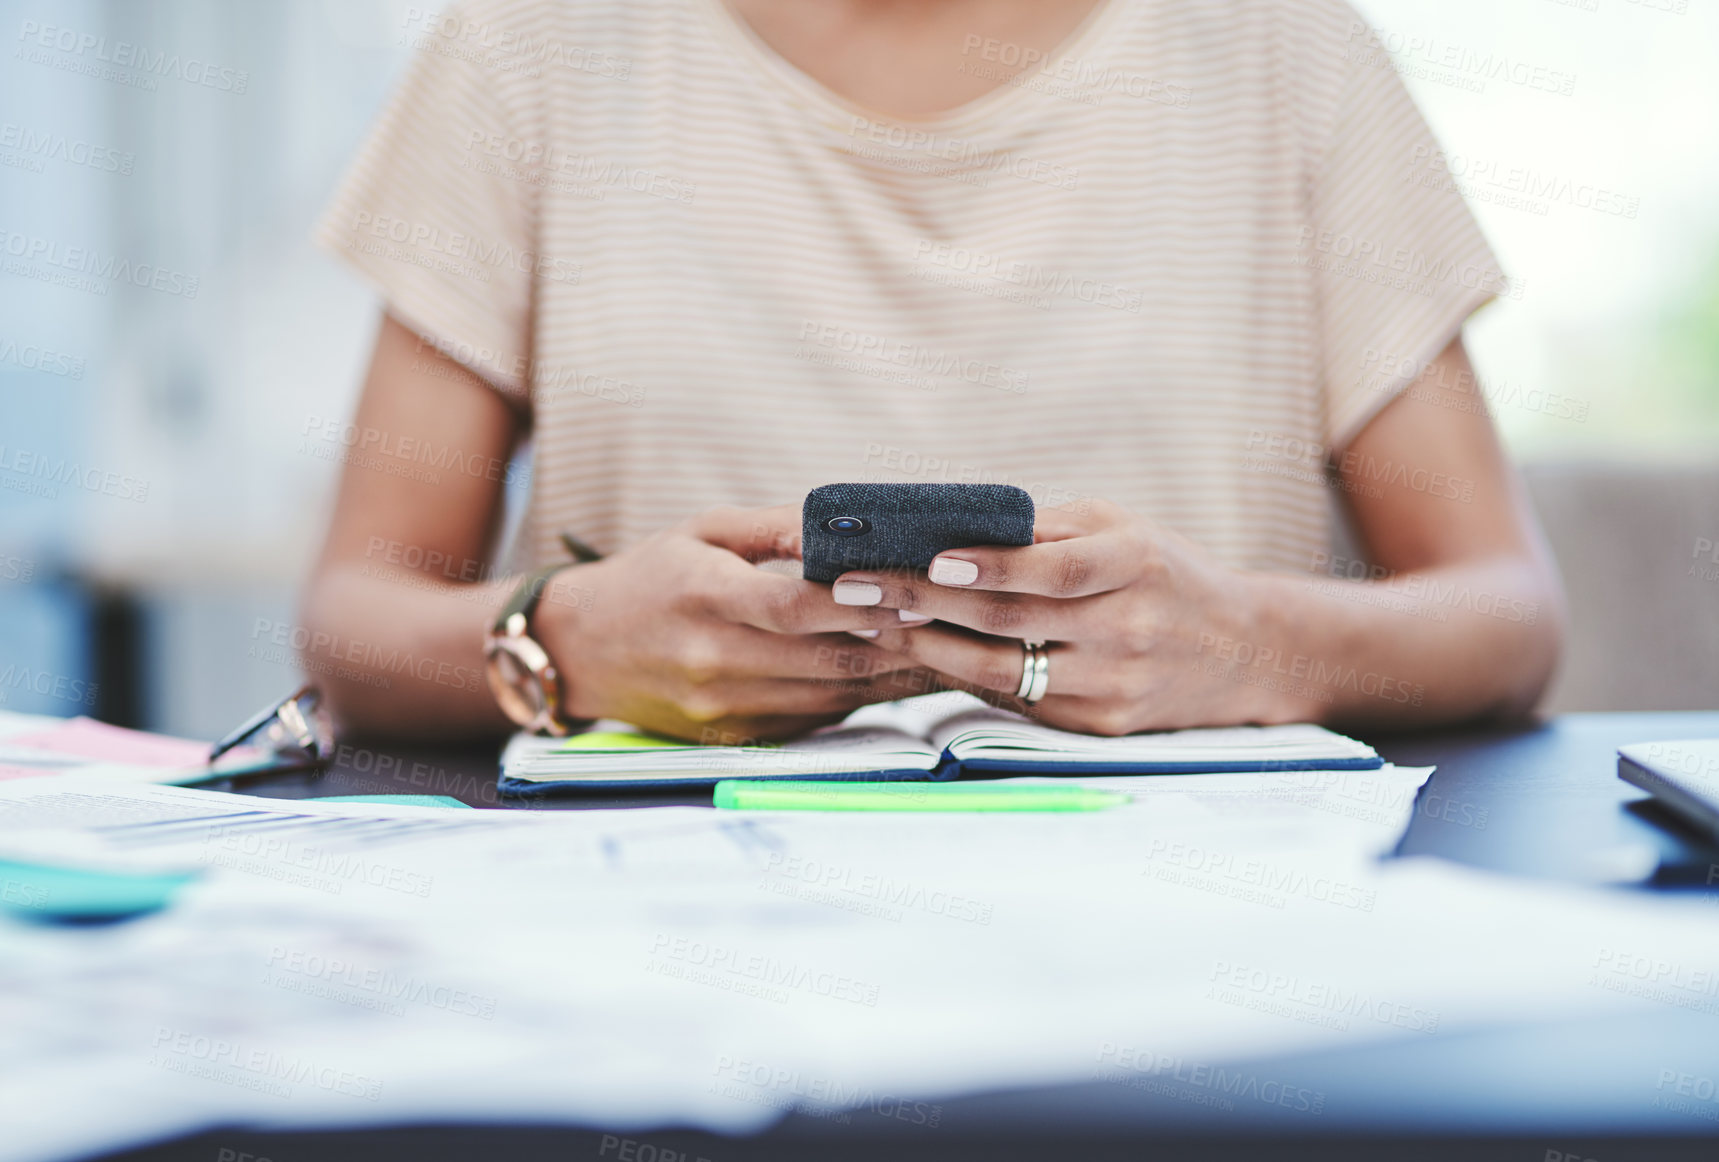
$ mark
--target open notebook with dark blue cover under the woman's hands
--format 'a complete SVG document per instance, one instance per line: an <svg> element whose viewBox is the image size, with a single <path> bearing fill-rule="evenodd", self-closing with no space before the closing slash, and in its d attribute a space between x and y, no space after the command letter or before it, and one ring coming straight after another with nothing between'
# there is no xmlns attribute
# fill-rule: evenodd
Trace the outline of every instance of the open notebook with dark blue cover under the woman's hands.
<svg viewBox="0 0 1719 1162"><path fill-rule="evenodd" d="M571 739L519 734L500 789L710 786L719 779L957 779L1179 775L1236 770L1372 770L1365 743L1317 725L1220 727L1098 737L1054 731L968 694L865 706L844 722L772 746L694 746L598 722Z"/></svg>

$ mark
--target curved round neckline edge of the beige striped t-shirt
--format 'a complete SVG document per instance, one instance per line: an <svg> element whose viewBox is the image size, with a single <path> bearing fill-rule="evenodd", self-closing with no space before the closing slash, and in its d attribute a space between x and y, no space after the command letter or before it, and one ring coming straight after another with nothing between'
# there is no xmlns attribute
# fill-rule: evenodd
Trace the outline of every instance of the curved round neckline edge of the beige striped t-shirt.
<svg viewBox="0 0 1719 1162"><path fill-rule="evenodd" d="M885 113L853 101L830 89L811 74L801 70L782 53L772 48L762 36L758 36L753 26L748 24L743 15L729 9L724 0L693 0L693 3L705 10L705 17L717 29L717 33L729 41L729 46L734 48L737 55L751 62L751 65L763 72L770 81L787 88L799 98L801 105L810 105L825 115L842 119L863 117L868 122L894 124L918 131L954 129L971 125L973 122L987 120L990 117L1000 117L1014 105L1030 98L1031 86L1021 84L1021 77L1031 76L1038 70L1054 70L1059 64L1069 58L1097 57L1093 50L1105 40L1110 26L1119 19L1123 9L1128 7L1128 0L1098 0L1097 7L1086 14L1086 19L1081 21L1080 26L1069 33L1061 45L1050 50L1050 53L1045 55L1045 60L1033 69L1028 69L1023 74L997 84L997 88L988 93L982 93L971 101L956 105L954 108L947 108L928 117L897 117L894 113Z"/></svg>

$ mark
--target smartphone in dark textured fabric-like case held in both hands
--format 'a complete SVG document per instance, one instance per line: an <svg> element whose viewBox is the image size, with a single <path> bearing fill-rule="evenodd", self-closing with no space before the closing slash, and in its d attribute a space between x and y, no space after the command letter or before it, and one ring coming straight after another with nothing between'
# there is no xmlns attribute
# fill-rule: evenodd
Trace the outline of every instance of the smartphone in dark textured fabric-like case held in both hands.
<svg viewBox="0 0 1719 1162"><path fill-rule="evenodd" d="M1031 545L1033 498L1014 485L823 485L806 493L806 581L854 569L923 569L970 545Z"/></svg>

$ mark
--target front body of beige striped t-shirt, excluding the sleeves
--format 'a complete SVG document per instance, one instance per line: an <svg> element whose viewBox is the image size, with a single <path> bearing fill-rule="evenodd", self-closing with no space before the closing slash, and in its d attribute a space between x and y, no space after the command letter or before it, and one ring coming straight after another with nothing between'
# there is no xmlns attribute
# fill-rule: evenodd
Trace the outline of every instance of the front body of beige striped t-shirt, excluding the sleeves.
<svg viewBox="0 0 1719 1162"><path fill-rule="evenodd" d="M1275 5L1112 0L923 124L846 105L719 0L511 7L552 46L521 180L562 272L535 282L528 559L849 480L1104 497L1245 567L1327 547L1296 261L1320 95Z"/></svg>

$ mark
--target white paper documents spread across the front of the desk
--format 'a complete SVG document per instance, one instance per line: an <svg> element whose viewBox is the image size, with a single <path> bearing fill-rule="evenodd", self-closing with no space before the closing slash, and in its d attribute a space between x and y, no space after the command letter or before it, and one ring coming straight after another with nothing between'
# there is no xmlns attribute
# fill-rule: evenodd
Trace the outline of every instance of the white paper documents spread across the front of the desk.
<svg viewBox="0 0 1719 1162"><path fill-rule="evenodd" d="M1165 1057L1716 1004L1697 904L1380 861L1427 774L1095 777L1133 801L964 816L10 782L0 859L76 832L203 875L122 925L0 925L0 1162L217 1122L913 1121ZM1686 971L1636 995L1643 957Z"/></svg>

